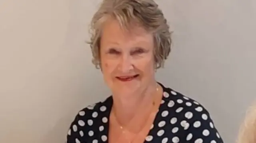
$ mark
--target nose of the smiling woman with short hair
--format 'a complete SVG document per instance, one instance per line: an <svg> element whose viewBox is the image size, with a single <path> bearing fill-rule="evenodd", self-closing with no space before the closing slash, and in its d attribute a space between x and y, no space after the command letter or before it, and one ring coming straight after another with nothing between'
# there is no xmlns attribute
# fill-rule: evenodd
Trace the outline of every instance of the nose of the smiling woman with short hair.
<svg viewBox="0 0 256 143"><path fill-rule="evenodd" d="M129 55L122 55L119 62L119 70L122 73L129 73L132 69L132 58Z"/></svg>

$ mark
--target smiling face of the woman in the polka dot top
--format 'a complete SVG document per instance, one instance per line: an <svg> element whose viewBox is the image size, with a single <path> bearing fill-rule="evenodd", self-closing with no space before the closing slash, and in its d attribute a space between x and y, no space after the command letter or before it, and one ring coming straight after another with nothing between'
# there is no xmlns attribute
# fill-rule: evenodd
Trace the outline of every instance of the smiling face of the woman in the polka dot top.
<svg viewBox="0 0 256 143"><path fill-rule="evenodd" d="M142 92L154 79L154 40L141 27L122 29L116 20L104 23L100 41L101 69L112 92Z"/></svg>

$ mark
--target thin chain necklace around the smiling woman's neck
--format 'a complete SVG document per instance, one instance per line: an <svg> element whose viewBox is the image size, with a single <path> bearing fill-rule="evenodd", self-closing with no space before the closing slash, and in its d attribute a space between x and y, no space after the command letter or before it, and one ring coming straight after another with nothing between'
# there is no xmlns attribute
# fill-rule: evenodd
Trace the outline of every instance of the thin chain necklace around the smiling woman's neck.
<svg viewBox="0 0 256 143"><path fill-rule="evenodd" d="M159 88L158 88L158 84L157 84L156 92L158 92L158 90L159 90ZM154 107L155 107L155 106L156 106L156 102L155 102L155 99L154 99L153 102L152 102L152 110L154 110ZM151 112L151 113L150 113L150 116L154 115L153 113L154 113L154 112ZM150 117L150 116L149 116L149 117ZM115 118L115 120L116 120L116 123L118 124L118 126L119 126L120 129L122 130L122 134L125 134L125 133L126 133L125 130L128 130L128 129L125 129L125 127L121 125L121 123L120 123L120 122L118 121L118 119L116 118L115 113L114 113L114 118ZM147 119L145 125L141 128L141 130L140 130L131 140L126 137L126 140L127 140L128 143L132 143L132 142L136 139L136 137L138 137L138 135L140 135L140 132L145 128L145 126L147 125L149 119L150 119L150 118ZM126 135L126 136L127 136L127 135ZM130 141L129 141L129 140L130 140Z"/></svg>

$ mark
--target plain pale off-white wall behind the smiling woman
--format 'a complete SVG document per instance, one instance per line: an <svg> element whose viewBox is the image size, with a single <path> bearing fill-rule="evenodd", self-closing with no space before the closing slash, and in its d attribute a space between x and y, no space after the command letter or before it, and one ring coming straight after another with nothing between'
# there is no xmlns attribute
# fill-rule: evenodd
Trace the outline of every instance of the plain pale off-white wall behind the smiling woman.
<svg viewBox="0 0 256 143"><path fill-rule="evenodd" d="M0 1L1 143L63 143L77 111L110 94L84 42L99 1ZM157 78L204 104L233 143L256 98L255 0L157 2L174 30Z"/></svg>

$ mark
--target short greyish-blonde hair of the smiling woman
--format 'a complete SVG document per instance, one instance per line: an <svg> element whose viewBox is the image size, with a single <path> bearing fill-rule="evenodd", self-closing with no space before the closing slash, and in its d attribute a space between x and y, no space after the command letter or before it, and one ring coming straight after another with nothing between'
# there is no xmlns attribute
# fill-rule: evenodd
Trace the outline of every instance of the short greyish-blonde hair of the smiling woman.
<svg viewBox="0 0 256 143"><path fill-rule="evenodd" d="M92 63L100 68L100 39L102 24L107 18L118 20L122 28L129 30L132 23L139 24L154 36L155 68L164 67L171 51L171 32L167 20L154 0L103 0L90 24Z"/></svg>

